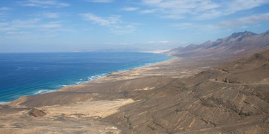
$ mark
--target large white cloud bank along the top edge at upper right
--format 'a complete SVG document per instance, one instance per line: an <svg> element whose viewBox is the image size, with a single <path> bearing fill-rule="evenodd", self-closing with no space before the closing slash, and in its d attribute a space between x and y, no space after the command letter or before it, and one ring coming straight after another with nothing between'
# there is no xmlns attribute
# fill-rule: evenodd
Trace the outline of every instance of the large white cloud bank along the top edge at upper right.
<svg viewBox="0 0 269 134"><path fill-rule="evenodd" d="M161 18L207 20L262 6L268 2L269 0L142 0L142 4L148 6L148 9L141 12L156 12Z"/></svg>

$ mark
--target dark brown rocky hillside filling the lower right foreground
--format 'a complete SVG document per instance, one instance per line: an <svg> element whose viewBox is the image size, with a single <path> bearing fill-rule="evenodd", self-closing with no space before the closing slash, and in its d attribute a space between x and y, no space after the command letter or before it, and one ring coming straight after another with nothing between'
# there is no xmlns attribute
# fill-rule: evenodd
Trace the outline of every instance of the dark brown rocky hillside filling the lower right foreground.
<svg viewBox="0 0 269 134"><path fill-rule="evenodd" d="M173 80L105 119L127 133L268 133L269 75L263 75L269 73L268 54L269 49Z"/></svg>

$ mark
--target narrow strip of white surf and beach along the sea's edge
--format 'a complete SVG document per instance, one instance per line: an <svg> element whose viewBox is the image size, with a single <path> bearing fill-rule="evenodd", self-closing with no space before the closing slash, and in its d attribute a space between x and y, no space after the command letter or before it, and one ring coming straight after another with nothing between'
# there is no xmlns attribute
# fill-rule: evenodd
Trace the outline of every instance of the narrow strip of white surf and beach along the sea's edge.
<svg viewBox="0 0 269 134"><path fill-rule="evenodd" d="M167 54L164 54L164 55L168 56ZM74 86L78 86L78 85L84 85L84 84L87 84L87 83L96 83L96 80L101 80L103 78L109 77L113 73L124 73L124 72L131 71L131 70L134 70L134 69L147 68L149 66L156 66L159 63L165 63L165 62L172 61L173 59L177 58L175 56L170 56L170 57L171 57L171 59L168 59L166 61L159 61L159 62L155 62L155 63L146 63L144 66L138 66L138 67L135 67L135 68L130 68L130 69L122 70L122 71L112 71L112 72L109 72L109 73L102 73L102 74L99 74L99 75L93 75L93 76L88 77L88 78L93 77L93 80L86 80L86 81L82 81L82 82L76 82L78 84L75 83L75 84L71 84L71 85L63 85L62 87L60 87L58 89L48 90L47 92L42 92L42 93L38 93L38 94L34 94L34 95L21 95L20 97L18 97L18 99L20 99L21 97L24 97L24 96L44 95L44 94L51 93L51 92L58 92L59 90L62 90L64 88L74 87ZM96 77L96 78L94 78L94 77ZM39 92L39 91L40 90L37 90L35 92ZM11 102L13 102L15 100L17 100L17 99L13 99L13 100L11 100L9 102L0 102L0 105L10 104Z"/></svg>

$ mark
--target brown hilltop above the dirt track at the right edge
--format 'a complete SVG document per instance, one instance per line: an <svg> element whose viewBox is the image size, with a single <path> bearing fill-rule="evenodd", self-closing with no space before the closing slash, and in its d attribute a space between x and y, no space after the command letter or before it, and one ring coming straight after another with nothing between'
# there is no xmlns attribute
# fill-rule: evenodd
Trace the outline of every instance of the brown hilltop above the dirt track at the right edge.
<svg viewBox="0 0 269 134"><path fill-rule="evenodd" d="M269 83L269 49L217 69L224 71L217 80L226 80L227 83Z"/></svg>

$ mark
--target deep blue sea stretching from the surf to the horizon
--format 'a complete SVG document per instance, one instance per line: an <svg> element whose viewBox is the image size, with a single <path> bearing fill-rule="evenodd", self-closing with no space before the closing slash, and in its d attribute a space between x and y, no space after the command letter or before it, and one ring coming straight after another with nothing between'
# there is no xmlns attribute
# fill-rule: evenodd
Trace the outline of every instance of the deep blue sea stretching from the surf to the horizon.
<svg viewBox="0 0 269 134"><path fill-rule="evenodd" d="M0 103L168 59L164 54L135 52L0 54Z"/></svg>

